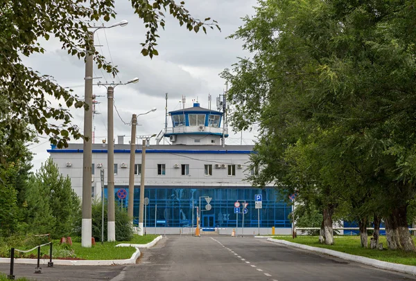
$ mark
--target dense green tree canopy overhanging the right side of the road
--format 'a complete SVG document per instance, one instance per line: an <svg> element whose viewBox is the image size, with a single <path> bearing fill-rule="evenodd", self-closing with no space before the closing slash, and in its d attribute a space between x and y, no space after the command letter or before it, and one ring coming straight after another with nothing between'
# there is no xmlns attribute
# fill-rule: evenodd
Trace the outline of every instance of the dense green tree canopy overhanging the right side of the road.
<svg viewBox="0 0 416 281"><path fill-rule="evenodd" d="M389 248L406 251L415 251L406 219L416 191L415 16L411 1L259 1L232 35L252 58L222 73L232 125L260 123L252 161L264 169L253 183L301 189L313 182L291 175L309 174L348 203L368 185L374 206L356 215L379 211Z"/></svg>

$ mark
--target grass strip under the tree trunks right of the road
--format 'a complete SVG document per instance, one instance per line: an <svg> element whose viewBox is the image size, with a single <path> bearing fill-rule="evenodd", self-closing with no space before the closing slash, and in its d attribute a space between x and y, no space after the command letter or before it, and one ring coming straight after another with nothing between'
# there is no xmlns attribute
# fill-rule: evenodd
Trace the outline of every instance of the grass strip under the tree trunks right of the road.
<svg viewBox="0 0 416 281"><path fill-rule="evenodd" d="M343 253L349 253L352 255L361 255L363 257L370 257L376 260L382 260L384 262L394 262L396 264L408 264L416 266L416 253L408 253L405 251L387 250L387 242L385 236L380 237L380 242L383 243L384 250L372 250L370 249L370 236L368 237L369 248L361 248L359 236L336 236L334 237L334 245L323 245L318 242L318 236L298 236L293 239L292 237L274 237L279 240L286 240L288 242L294 242L319 248L329 248L333 251L340 251ZM415 240L415 237L413 237Z"/></svg>

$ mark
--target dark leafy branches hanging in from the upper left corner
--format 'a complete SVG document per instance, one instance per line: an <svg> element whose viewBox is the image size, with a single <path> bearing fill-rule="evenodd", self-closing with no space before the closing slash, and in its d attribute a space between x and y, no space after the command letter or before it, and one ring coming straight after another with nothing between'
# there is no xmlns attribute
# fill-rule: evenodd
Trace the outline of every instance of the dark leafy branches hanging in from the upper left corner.
<svg viewBox="0 0 416 281"><path fill-rule="evenodd" d="M164 28L164 12L173 16L179 24L196 33L206 26L213 28L216 21L206 18L195 19L184 8L184 2L173 0L141 1L130 0L132 10L143 19L147 29L146 39L141 44L141 53L158 55L155 48L159 28ZM44 53L39 43L55 36L62 43L62 48L70 55L85 57L86 52L94 55L98 68L115 75L117 69L94 48L91 39L87 39L88 26L94 21L110 21L116 16L114 1L110 0L6 0L0 7L0 96L7 97L7 107L0 107L0 134L6 145L13 147L15 141L28 141L30 132L24 129L31 125L37 134L48 134L51 143L58 147L67 146L71 137L82 135L76 125L71 124L71 114L66 107L85 107L78 98L71 96L49 75L41 75L28 68L21 61L21 55ZM55 108L51 98L60 100ZM62 102L61 102L62 101ZM24 126L22 126L24 124ZM18 152L18 150L16 149ZM6 163L3 147L0 146L1 163Z"/></svg>

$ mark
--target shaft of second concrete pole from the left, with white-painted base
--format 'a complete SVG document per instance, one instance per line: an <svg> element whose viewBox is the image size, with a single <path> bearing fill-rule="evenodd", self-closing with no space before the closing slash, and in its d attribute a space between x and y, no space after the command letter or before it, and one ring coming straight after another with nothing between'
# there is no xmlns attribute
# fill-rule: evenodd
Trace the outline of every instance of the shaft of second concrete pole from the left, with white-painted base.
<svg viewBox="0 0 416 281"><path fill-rule="evenodd" d="M107 241L116 241L116 219L114 215L114 87L107 87Z"/></svg>

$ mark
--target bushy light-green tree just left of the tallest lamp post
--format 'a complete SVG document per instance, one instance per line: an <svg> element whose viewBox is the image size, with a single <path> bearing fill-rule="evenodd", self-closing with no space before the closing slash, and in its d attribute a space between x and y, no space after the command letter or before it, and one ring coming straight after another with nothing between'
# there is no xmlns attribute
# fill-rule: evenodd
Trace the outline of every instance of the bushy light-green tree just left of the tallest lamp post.
<svg viewBox="0 0 416 281"><path fill-rule="evenodd" d="M58 166L51 158L31 177L27 203L31 231L51 233L53 238L71 234L80 200L71 188L71 180L59 173Z"/></svg>

